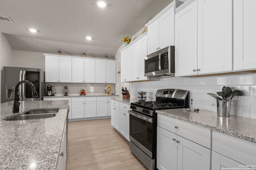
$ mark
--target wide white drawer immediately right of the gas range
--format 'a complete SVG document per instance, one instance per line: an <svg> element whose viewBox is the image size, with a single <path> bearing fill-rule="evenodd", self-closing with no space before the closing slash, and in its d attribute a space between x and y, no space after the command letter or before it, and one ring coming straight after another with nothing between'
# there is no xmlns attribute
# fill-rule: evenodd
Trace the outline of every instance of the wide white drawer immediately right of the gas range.
<svg viewBox="0 0 256 170"><path fill-rule="evenodd" d="M157 125L172 133L180 135L206 148L211 148L211 130L174 119L165 115L157 115Z"/></svg>

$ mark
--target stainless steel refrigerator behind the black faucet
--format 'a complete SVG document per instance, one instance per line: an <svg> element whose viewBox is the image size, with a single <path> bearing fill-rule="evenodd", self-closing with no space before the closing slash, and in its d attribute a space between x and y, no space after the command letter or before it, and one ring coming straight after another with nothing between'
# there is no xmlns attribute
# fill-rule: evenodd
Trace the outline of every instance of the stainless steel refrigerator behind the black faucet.
<svg viewBox="0 0 256 170"><path fill-rule="evenodd" d="M45 95L44 71L41 68L3 67L2 102L14 101L14 87L21 80L32 82L38 93L38 98L32 98L32 89L27 84L18 88L20 101L42 100Z"/></svg>

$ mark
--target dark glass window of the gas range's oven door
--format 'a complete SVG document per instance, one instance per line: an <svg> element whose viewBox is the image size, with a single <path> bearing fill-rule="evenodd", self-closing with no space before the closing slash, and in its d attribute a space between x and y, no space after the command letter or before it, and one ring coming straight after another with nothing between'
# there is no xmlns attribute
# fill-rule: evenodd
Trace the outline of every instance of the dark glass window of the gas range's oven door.
<svg viewBox="0 0 256 170"><path fill-rule="evenodd" d="M154 145L154 133L154 118L153 123L150 123L130 115L130 136L150 150L150 152L154 152L152 149Z"/></svg>

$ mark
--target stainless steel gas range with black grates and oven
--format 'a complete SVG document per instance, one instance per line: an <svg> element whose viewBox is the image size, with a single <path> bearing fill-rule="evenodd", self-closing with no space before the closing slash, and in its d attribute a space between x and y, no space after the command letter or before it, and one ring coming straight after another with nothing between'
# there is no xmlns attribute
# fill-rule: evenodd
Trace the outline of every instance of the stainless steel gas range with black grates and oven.
<svg viewBox="0 0 256 170"><path fill-rule="evenodd" d="M188 107L188 91L161 89L156 92L156 101L131 103L130 150L148 168L156 168L156 110Z"/></svg>

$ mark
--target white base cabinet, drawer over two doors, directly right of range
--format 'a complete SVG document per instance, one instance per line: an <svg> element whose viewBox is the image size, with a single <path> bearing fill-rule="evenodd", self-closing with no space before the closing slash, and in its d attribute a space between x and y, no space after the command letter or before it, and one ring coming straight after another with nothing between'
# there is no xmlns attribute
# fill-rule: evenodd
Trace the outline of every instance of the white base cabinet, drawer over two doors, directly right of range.
<svg viewBox="0 0 256 170"><path fill-rule="evenodd" d="M158 115L157 121L156 167L159 170L210 170L211 151L204 147L210 148L210 129L164 115Z"/></svg>

